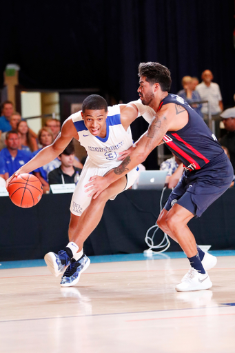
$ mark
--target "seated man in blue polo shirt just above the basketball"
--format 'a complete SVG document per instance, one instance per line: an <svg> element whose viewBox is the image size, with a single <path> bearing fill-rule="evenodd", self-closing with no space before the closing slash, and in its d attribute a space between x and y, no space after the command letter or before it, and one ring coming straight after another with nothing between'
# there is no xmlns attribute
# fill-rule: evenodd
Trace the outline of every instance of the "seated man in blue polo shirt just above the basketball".
<svg viewBox="0 0 235 353"><path fill-rule="evenodd" d="M14 174L22 165L30 161L31 152L19 150L19 135L16 130L8 131L6 134L6 148L0 152L0 160L3 161L3 170L9 176ZM2 174L2 173L0 173Z"/></svg>

